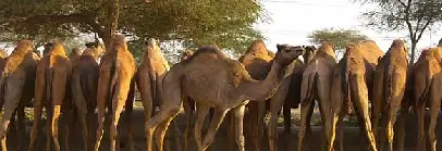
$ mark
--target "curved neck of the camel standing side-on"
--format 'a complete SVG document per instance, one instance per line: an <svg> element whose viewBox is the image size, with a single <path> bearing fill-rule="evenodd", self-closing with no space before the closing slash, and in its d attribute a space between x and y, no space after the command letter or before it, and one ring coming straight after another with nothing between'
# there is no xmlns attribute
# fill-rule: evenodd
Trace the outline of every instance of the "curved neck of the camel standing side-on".
<svg viewBox="0 0 442 151"><path fill-rule="evenodd" d="M267 100L270 98L282 79L281 65L277 61L272 61L269 74L263 80L247 80L242 84L242 89L245 92L247 100Z"/></svg>

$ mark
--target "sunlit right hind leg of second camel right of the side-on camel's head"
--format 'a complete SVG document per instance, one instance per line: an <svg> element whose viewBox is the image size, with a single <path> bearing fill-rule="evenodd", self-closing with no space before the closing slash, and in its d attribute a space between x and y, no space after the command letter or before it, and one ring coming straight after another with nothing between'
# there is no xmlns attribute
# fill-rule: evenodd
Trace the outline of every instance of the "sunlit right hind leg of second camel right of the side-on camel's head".
<svg viewBox="0 0 442 151"><path fill-rule="evenodd" d="M369 109L368 109L368 89L367 85L365 84L365 77L364 75L352 75L353 77L351 78L351 93L352 93L352 100L353 103L355 103L355 106L360 115L360 118L363 119L360 123L364 124L365 128L365 136L367 137L368 144L370 147L370 150L377 151L376 147L376 140L373 137L373 133L371 131L371 122L370 122L370 114L369 114Z"/></svg>

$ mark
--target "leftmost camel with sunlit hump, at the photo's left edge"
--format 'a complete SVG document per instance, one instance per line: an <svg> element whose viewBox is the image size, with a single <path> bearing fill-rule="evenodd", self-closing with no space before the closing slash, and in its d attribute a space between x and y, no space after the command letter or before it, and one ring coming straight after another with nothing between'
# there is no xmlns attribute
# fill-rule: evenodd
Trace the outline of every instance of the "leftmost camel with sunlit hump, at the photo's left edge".
<svg viewBox="0 0 442 151"><path fill-rule="evenodd" d="M11 55L3 62L1 74L1 100L4 102L4 113L1 117L1 148L7 151L7 130L10 122L14 122L14 113L19 118L17 131L21 144L14 147L24 150L24 108L34 97L34 77L39 58L33 53L34 45L29 40L22 40L17 43ZM12 119L11 119L12 118ZM14 128L15 127L11 127Z"/></svg>

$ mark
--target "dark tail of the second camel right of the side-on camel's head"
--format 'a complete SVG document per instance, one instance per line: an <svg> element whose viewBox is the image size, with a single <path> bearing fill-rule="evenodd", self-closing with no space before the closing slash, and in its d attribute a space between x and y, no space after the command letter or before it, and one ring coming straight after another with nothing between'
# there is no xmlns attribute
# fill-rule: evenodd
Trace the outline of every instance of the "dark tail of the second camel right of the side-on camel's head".
<svg viewBox="0 0 442 151"><path fill-rule="evenodd" d="M351 74L351 71L348 68L348 64L349 61L348 59L344 59L344 64L342 65L341 68L341 89L343 92L343 103L345 105L345 113L346 114L351 114L353 112L353 108L352 108L352 100L351 100L351 96L349 96L349 79L348 76Z"/></svg>

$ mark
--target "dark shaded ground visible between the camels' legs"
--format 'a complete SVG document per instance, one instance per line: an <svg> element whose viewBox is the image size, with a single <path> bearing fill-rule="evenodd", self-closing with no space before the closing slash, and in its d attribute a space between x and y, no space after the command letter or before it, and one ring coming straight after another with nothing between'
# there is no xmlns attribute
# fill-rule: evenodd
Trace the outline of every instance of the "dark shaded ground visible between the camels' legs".
<svg viewBox="0 0 442 151"><path fill-rule="evenodd" d="M293 111L294 116L293 117L297 117L298 116L298 110L294 110ZM315 116L319 116L318 113L316 113ZM177 123L180 123L180 128L182 129L182 131L184 131L184 121L183 121L183 116L179 116L177 118ZM207 122L207 121L206 121ZM416 138L417 138L417 125L416 125L416 116L414 114L409 114L408 118L407 118L407 126L406 126L406 143L405 143L405 148L406 151L412 151L415 148L416 144ZM439 121L440 122L440 121ZM120 127L121 130L119 130L122 135L121 140L121 149L124 151L125 149L125 140L127 140L127 138L125 137L125 123L121 123L122 126ZM208 122L207 124L208 125ZM440 123L438 124L438 127ZM44 150L45 148L45 141L46 141L46 137L45 137L45 131L44 131L44 126L45 123L41 124L41 130L39 133L39 138L38 138L38 144L37 144L37 150ZM134 134L134 140L135 140L135 149L137 151L144 151L145 149L145 137L144 137L144 117L143 117L143 113L140 109L136 109L134 111L133 114L133 134ZM226 126L223 124L220 128L220 130L217 134L216 140L213 142L213 144L209 148L209 151L225 151L229 150L231 151L231 149L229 149L229 139L226 138ZM81 142L81 129L78 128L78 126L72 127L71 129L71 134L73 134L72 138L71 138L71 151L82 151L82 142ZM170 126L169 128L171 131L171 135L169 136L169 138L174 138L176 134L174 134L173 126ZM319 139L320 136L320 126L314 126L314 137L310 137L308 139L308 142L311 142L311 148L309 148L310 146L308 146L307 143L305 143L306 150L311 150L311 151L317 151L320 150L319 149L319 144L321 142L321 140ZM28 144L28 134L30 131L30 122L27 123L26 126L26 147ZM284 135L282 134L282 127L279 127L279 138L278 138L278 144L279 144L279 151L294 151L296 150L296 146L297 146L297 126L293 126L292 127L292 133L288 135ZM61 134L63 134L62 131L60 131ZM101 143L101 148L100 150L102 151L108 151L109 148L109 137L107 136L108 131L105 131L105 136L102 139L102 143ZM180 134L179 134L180 135ZM438 135L438 139L441 139L441 130L437 130L437 135ZM182 147L180 148L175 148L173 144L175 143L173 140L174 139L170 139L170 151L181 151ZM181 142L183 142L183 139L181 137ZM267 139L263 141L263 151L267 151ZM11 144L12 141L9 140L9 143ZM363 143L364 143L364 139L361 139L361 137L359 136L359 129L358 127L346 127L344 129L344 146L345 146L345 151L361 151L363 150ZM234 146L235 147L235 146ZM13 149L10 149L13 150ZM191 148L189 151L195 151L195 142L194 139L191 140ZM235 149L236 150L236 149ZM438 146L438 150L442 150L442 148L440 146Z"/></svg>

